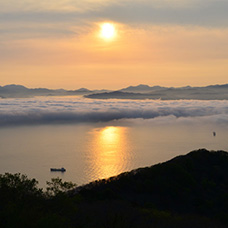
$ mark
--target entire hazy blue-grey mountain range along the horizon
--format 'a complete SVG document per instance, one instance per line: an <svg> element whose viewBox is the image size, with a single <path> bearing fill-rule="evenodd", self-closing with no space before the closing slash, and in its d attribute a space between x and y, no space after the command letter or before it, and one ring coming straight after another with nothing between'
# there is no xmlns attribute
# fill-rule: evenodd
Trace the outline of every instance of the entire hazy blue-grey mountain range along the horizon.
<svg viewBox="0 0 228 228"><path fill-rule="evenodd" d="M34 96L84 96L93 99L161 99L161 100L228 100L228 84L205 87L162 87L140 84L120 90L76 90L27 88L23 85L0 86L0 98L28 98Z"/></svg>

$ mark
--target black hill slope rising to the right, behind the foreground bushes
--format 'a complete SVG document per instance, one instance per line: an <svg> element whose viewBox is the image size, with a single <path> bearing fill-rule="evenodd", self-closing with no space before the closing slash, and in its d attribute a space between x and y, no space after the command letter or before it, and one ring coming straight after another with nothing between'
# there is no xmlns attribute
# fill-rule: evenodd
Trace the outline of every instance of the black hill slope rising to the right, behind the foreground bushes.
<svg viewBox="0 0 228 228"><path fill-rule="evenodd" d="M82 195L124 199L138 206L228 215L228 153L193 151L168 162L137 169L85 186Z"/></svg>

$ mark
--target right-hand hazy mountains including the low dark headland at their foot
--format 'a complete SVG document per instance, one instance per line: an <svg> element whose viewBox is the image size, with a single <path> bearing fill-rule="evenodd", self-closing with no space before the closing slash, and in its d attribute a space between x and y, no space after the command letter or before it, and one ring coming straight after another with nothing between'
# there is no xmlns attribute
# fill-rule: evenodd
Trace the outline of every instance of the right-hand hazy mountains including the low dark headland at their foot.
<svg viewBox="0 0 228 228"><path fill-rule="evenodd" d="M118 91L86 95L94 99L228 100L228 84L205 87L161 87L138 85Z"/></svg>

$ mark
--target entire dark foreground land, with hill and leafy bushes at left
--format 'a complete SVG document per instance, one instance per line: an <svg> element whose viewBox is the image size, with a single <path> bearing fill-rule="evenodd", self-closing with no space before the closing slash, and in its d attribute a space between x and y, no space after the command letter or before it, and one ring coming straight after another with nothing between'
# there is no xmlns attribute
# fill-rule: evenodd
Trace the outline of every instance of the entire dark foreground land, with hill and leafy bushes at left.
<svg viewBox="0 0 228 228"><path fill-rule="evenodd" d="M54 195L2 176L1 227L228 227L227 174L228 153L202 149Z"/></svg>

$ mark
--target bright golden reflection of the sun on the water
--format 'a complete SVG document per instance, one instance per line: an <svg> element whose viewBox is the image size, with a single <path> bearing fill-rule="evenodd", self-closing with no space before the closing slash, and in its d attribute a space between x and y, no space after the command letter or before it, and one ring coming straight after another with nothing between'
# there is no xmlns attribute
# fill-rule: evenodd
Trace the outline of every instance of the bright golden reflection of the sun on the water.
<svg viewBox="0 0 228 228"><path fill-rule="evenodd" d="M92 132L91 160L88 170L91 180L117 175L128 168L127 128L108 126Z"/></svg>

